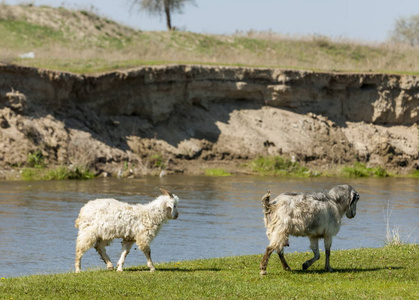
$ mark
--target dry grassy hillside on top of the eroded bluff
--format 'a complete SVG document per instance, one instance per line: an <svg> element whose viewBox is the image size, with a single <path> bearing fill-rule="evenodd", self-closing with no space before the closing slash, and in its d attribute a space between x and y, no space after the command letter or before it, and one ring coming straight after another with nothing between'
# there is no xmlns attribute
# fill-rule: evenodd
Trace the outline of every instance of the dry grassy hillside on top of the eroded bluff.
<svg viewBox="0 0 419 300"><path fill-rule="evenodd" d="M233 35L140 31L91 11L0 4L0 61L76 73L213 64L419 74L419 48L271 31ZM20 58L24 53L34 58Z"/></svg>

